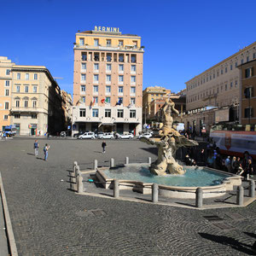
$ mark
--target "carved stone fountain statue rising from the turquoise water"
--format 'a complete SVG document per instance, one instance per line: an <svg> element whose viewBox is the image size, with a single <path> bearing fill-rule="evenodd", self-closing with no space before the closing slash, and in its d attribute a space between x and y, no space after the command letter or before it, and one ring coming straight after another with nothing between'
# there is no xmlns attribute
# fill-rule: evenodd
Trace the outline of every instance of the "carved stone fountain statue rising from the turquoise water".
<svg viewBox="0 0 256 256"><path fill-rule="evenodd" d="M149 171L155 175L184 174L186 171L183 170L183 166L180 166L174 158L177 148L198 145L197 142L189 140L172 127L173 119L178 114L172 99L166 99L163 107L163 126L159 134L140 139L142 142L156 145L158 148L158 158L149 166Z"/></svg>

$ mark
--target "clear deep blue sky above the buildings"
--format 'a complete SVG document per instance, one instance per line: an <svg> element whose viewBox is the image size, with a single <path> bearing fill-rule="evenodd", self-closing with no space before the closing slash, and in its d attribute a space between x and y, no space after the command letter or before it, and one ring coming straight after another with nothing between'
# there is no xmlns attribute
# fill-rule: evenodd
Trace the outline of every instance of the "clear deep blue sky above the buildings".
<svg viewBox="0 0 256 256"><path fill-rule="evenodd" d="M115 26L142 37L143 88L184 82L256 40L256 1L2 1L0 55L44 65L73 93L75 33Z"/></svg>

